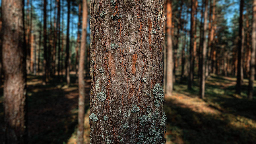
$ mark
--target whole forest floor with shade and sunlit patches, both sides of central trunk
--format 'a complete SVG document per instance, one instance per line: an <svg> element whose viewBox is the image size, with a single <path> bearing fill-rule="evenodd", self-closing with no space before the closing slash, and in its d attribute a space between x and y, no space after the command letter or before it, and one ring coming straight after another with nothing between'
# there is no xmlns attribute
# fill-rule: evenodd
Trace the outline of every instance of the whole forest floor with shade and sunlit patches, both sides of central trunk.
<svg viewBox="0 0 256 144"><path fill-rule="evenodd" d="M72 81L73 80L73 81ZM78 89L53 79L42 85L42 76L28 76L29 143L75 144ZM199 99L197 79L193 90L177 82L173 96L166 95L167 143L256 143L256 100L246 99L248 80L241 96L235 95L236 78L211 75L205 99ZM256 86L256 83L255 83ZM0 87L0 141L3 136L3 85ZM86 80L85 143L89 143L90 80Z"/></svg>

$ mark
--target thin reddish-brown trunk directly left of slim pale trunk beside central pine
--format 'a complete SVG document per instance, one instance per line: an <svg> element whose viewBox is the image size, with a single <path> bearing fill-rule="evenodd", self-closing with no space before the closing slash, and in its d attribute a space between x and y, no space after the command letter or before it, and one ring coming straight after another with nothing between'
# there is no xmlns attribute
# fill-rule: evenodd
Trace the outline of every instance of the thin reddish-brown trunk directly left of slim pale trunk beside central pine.
<svg viewBox="0 0 256 144"><path fill-rule="evenodd" d="M81 29L81 0L79 0L79 6L78 6L78 23L77 23L77 46L76 46L76 63L75 63L75 69L76 69L76 76L77 76L77 70L78 70L78 51L79 51L79 45L80 45L80 29Z"/></svg>

